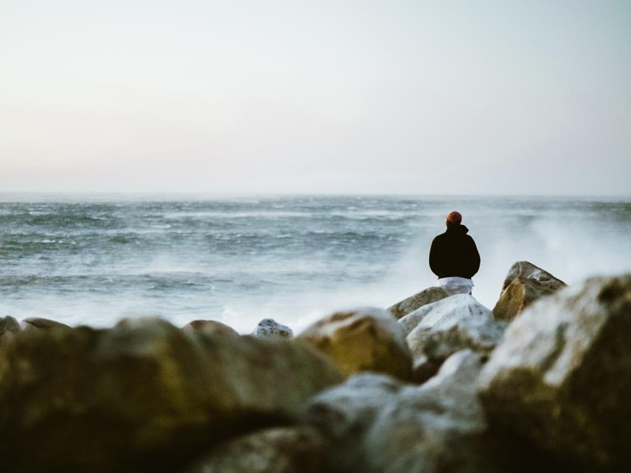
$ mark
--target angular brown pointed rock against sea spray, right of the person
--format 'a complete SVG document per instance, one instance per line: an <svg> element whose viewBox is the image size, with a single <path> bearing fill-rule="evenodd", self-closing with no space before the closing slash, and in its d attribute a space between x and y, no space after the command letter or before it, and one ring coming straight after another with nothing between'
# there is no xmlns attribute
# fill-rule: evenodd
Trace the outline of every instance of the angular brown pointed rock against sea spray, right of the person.
<svg viewBox="0 0 631 473"><path fill-rule="evenodd" d="M517 261L508 270L500 298L493 309L498 320L513 320L542 296L554 294L566 284L528 261Z"/></svg>

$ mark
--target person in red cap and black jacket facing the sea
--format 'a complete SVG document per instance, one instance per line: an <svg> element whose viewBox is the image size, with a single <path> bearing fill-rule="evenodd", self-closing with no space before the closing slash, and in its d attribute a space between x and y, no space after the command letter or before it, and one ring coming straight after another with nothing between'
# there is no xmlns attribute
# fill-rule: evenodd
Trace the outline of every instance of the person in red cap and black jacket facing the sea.
<svg viewBox="0 0 631 473"><path fill-rule="evenodd" d="M449 296L471 294L471 278L480 269L480 253L469 229L462 225L462 215L451 212L447 215L447 231L434 238L430 249L430 268L438 276L438 285Z"/></svg>

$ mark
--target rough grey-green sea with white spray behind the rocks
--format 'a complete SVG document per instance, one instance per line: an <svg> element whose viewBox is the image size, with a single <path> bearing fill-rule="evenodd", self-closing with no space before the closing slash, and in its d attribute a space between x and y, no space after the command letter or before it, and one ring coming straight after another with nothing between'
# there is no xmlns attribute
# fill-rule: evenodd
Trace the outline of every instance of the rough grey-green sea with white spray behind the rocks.
<svg viewBox="0 0 631 473"><path fill-rule="evenodd" d="M0 194L0 315L108 327L123 317L299 331L435 285L431 240L463 214L493 308L515 261L572 284L631 271L630 198Z"/></svg>

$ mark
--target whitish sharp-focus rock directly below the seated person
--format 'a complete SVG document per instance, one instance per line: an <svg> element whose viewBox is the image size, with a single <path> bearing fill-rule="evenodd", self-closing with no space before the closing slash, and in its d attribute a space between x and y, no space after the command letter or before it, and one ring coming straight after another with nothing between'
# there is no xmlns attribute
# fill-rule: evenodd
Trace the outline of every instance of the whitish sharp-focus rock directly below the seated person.
<svg viewBox="0 0 631 473"><path fill-rule="evenodd" d="M506 322L493 320L491 311L470 296L456 294L423 306L399 320L404 329L416 323L406 341L414 355L414 381L423 383L442 362L469 348L488 355L501 341Z"/></svg>

